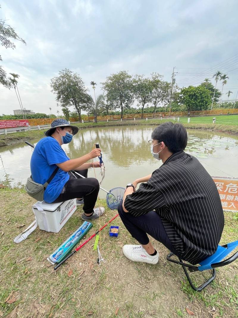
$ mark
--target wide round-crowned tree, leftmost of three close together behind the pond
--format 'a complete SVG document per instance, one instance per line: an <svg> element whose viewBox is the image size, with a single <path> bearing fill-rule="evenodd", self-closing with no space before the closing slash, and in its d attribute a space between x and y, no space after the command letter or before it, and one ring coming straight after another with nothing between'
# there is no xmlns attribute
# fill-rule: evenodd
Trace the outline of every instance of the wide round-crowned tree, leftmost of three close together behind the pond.
<svg viewBox="0 0 238 318"><path fill-rule="evenodd" d="M102 83L102 89L106 92L107 100L112 103L115 108L121 108L121 118L123 109L130 108L134 101L133 84L131 75L126 71L112 74Z"/></svg>

